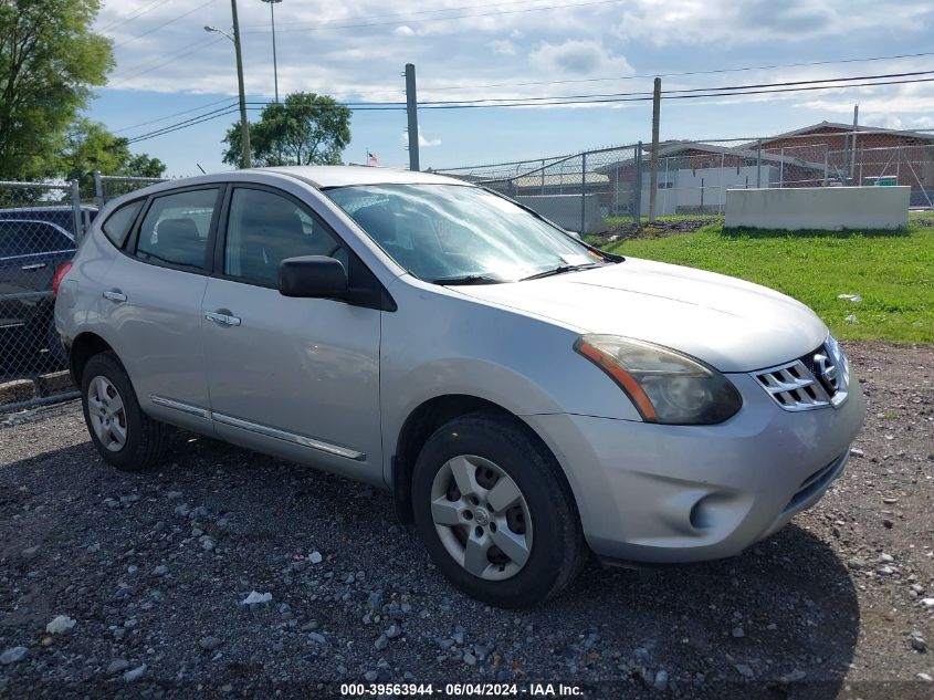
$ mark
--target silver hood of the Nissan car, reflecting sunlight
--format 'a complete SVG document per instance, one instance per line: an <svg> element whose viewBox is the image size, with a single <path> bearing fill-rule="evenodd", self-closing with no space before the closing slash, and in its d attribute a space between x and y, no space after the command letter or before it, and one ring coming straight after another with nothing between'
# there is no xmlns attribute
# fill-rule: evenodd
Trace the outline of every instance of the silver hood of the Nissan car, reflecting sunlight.
<svg viewBox="0 0 934 700"><path fill-rule="evenodd" d="M827 339L823 322L789 296L735 278L638 258L541 280L455 289L581 332L679 349L721 372L778 365Z"/></svg>

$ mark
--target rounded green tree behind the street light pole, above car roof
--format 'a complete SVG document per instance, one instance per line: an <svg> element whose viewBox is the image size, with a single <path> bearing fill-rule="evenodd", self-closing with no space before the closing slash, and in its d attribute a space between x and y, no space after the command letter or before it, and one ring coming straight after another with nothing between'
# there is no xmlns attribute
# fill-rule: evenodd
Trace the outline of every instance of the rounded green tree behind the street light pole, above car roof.
<svg viewBox="0 0 934 700"><path fill-rule="evenodd" d="M227 132L223 161L240 164L240 123ZM350 109L333 97L292 93L284 102L263 107L260 121L250 124L253 165L337 165L350 143Z"/></svg>

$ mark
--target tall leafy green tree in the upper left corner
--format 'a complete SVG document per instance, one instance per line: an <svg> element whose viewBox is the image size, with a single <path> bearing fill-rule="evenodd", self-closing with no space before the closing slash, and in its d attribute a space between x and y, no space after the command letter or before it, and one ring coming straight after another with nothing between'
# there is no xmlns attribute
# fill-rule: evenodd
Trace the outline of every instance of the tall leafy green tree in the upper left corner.
<svg viewBox="0 0 934 700"><path fill-rule="evenodd" d="M0 178L54 173L65 128L114 65L91 30L99 4L0 0Z"/></svg>

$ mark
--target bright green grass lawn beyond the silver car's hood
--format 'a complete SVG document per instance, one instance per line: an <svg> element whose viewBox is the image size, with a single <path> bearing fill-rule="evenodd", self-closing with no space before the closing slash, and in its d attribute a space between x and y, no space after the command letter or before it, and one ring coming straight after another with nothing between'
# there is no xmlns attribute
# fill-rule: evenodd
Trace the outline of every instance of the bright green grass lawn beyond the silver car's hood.
<svg viewBox="0 0 934 700"><path fill-rule="evenodd" d="M934 343L934 228L724 230L626 240L612 252L721 272L800 300L841 339ZM861 303L838 299L859 294ZM857 322L846 321L854 314Z"/></svg>

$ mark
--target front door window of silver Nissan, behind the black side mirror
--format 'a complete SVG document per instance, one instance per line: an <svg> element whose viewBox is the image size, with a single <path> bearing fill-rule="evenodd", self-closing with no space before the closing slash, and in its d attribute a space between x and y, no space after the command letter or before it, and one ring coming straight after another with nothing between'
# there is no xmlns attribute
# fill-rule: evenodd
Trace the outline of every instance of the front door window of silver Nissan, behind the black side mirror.
<svg viewBox="0 0 934 700"><path fill-rule="evenodd" d="M279 263L298 255L327 255L347 269L347 253L342 243L315 215L266 190L233 190L224 243L224 274L253 284L277 286Z"/></svg>

